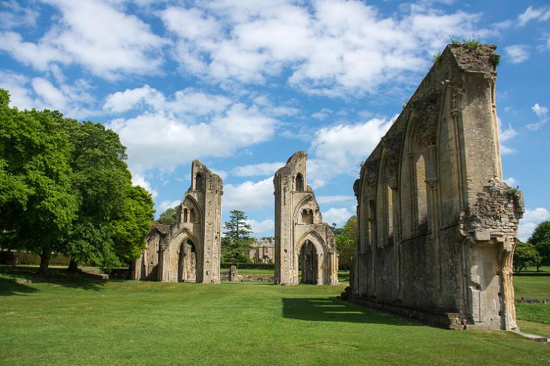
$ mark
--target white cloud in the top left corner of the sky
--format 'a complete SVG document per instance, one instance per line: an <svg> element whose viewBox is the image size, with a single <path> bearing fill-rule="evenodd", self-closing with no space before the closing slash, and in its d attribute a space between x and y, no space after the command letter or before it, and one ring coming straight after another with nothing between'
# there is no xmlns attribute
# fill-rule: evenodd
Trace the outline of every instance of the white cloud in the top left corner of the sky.
<svg viewBox="0 0 550 366"><path fill-rule="evenodd" d="M106 78L157 72L162 65L166 40L141 19L107 1L60 0L50 5L61 17L38 41L0 32L0 50L39 70L56 63L76 64Z"/></svg>

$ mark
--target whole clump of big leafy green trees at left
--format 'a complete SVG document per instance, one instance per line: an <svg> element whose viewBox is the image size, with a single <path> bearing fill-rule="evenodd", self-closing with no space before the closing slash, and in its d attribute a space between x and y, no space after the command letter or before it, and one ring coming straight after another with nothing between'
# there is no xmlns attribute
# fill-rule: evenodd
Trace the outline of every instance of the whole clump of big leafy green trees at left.
<svg viewBox="0 0 550 366"><path fill-rule="evenodd" d="M0 90L0 245L111 268L139 255L153 201L131 185L118 134L58 111L19 111Z"/></svg>

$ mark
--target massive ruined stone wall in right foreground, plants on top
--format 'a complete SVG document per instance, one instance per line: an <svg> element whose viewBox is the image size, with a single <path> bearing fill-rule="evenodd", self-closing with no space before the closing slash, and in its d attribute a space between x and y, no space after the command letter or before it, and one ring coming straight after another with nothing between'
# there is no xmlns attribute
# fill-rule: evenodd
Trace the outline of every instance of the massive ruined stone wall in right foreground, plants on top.
<svg viewBox="0 0 550 366"><path fill-rule="evenodd" d="M448 45L362 166L351 301L453 329L516 328L525 210L503 182L495 49Z"/></svg>

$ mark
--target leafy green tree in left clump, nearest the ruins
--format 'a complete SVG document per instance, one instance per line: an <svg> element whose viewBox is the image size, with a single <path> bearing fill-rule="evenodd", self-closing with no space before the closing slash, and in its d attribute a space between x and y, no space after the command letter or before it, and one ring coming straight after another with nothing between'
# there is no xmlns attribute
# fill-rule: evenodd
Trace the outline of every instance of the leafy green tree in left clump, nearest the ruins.
<svg viewBox="0 0 550 366"><path fill-rule="evenodd" d="M100 123L65 120L73 143L73 187L79 209L65 253L77 263L112 268L139 255L153 221L153 202L131 186L126 148L118 134ZM133 216L137 215L137 216Z"/></svg>

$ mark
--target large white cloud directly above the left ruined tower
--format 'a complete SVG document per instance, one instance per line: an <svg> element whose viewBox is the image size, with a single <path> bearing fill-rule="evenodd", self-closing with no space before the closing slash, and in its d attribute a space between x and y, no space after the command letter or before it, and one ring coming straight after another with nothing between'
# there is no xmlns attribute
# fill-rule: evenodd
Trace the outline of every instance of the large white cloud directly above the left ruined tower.
<svg viewBox="0 0 550 366"><path fill-rule="evenodd" d="M111 94L104 109L126 111L137 104L145 111L131 118L115 118L107 125L128 148L134 174L151 169L173 171L193 159L228 156L268 140L275 131L276 120L258 106L195 89L166 98L144 85Z"/></svg>

